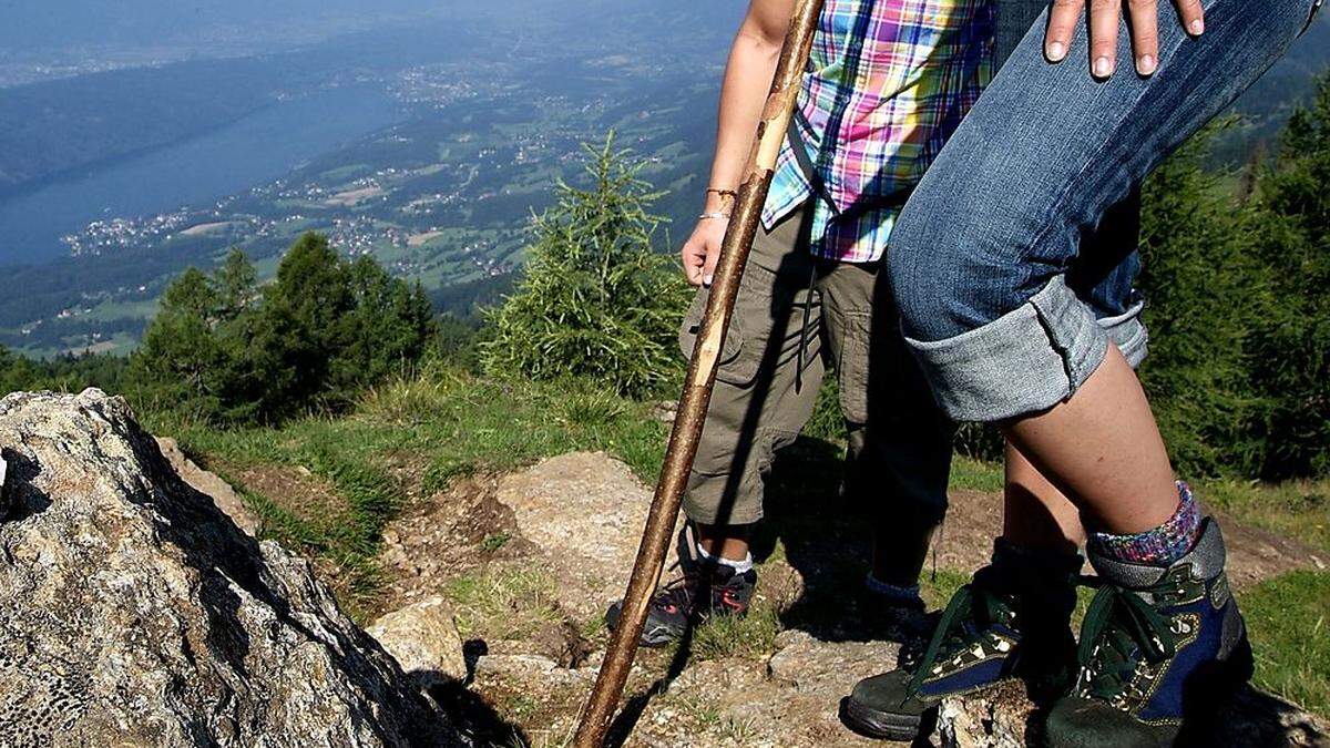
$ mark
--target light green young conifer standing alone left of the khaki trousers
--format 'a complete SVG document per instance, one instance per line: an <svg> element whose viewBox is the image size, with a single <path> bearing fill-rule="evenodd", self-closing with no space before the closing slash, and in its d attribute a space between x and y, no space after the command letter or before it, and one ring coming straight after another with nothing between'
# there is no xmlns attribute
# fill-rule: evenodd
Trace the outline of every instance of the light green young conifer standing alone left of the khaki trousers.
<svg viewBox="0 0 1330 748"><path fill-rule="evenodd" d="M585 146L587 189L559 184L539 216L525 278L487 315L481 362L495 375L589 377L622 394L645 394L680 369L676 330L688 302L680 273L653 252L662 193L638 178L642 164Z"/></svg>

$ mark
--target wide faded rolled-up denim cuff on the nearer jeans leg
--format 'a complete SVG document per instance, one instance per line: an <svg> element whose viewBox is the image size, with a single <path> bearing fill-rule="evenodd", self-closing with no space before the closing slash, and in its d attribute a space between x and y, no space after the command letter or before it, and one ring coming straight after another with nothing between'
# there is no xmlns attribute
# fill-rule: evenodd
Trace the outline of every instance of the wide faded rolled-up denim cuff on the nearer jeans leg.
<svg viewBox="0 0 1330 748"><path fill-rule="evenodd" d="M1124 315L1125 317L1125 315ZM1113 327L1144 357L1138 318ZM1132 342L1138 337L1140 342ZM1061 276L998 319L942 341L906 338L955 421L1004 421L1047 410L1069 398L1099 369L1109 330ZM1130 357L1128 358L1130 361Z"/></svg>

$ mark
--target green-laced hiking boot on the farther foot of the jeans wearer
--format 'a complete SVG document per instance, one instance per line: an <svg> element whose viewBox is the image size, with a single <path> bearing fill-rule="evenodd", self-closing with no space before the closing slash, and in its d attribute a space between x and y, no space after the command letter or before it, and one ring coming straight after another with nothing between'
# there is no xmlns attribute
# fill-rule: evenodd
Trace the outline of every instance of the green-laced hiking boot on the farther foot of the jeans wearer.
<svg viewBox="0 0 1330 748"><path fill-rule="evenodd" d="M947 696L1016 679L1036 700L1064 693L1075 672L1071 615L1080 567L1079 555L998 540L992 563L951 598L923 656L861 680L843 720L870 737L914 740Z"/></svg>

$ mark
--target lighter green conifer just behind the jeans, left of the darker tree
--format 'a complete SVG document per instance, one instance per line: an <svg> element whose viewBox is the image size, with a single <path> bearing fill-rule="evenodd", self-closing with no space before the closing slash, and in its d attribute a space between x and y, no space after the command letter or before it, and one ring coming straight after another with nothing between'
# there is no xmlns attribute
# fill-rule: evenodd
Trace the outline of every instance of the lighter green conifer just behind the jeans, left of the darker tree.
<svg viewBox="0 0 1330 748"><path fill-rule="evenodd" d="M1202 169L1214 132L1165 161L1142 194L1150 353L1141 381L1180 471L1193 476L1250 465L1260 405L1248 363L1264 273L1248 249L1248 213Z"/></svg>

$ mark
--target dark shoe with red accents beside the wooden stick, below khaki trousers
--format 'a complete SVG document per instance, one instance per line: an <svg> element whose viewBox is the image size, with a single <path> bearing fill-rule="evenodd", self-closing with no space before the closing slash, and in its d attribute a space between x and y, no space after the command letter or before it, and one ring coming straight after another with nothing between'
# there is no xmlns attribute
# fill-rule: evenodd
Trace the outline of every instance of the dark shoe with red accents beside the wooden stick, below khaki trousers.
<svg viewBox="0 0 1330 748"><path fill-rule="evenodd" d="M757 588L757 571L737 574L733 567L700 558L696 548L692 523L686 523L678 534L678 562L674 564L680 576L652 598L638 639L642 647L665 647L681 639L689 626L701 624L714 615L747 614ZM605 612L605 624L610 630L618 627L622 608L620 600Z"/></svg>

